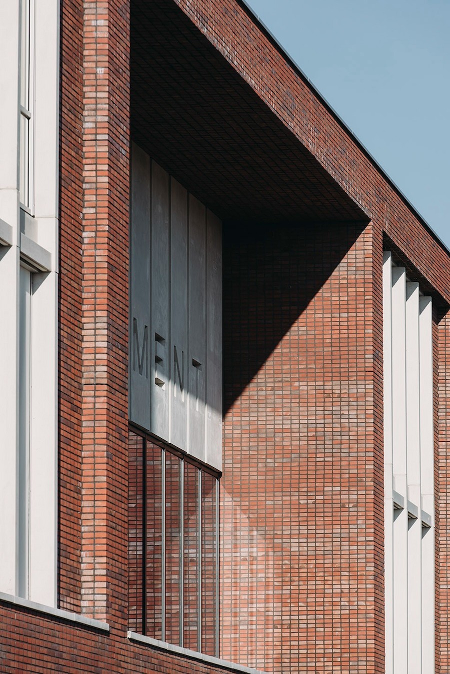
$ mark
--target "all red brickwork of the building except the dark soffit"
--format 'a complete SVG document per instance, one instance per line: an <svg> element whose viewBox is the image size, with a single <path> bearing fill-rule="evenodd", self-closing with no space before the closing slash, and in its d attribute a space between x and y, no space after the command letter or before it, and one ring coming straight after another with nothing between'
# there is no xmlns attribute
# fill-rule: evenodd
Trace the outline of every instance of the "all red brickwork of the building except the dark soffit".
<svg viewBox="0 0 450 674"><path fill-rule="evenodd" d="M239 1L155 5L183 12L358 206L351 222L328 212L319 224L224 222L220 656L277 674L384 671L384 240L437 307L435 671L445 674L449 254ZM0 669L226 671L126 638L142 630L143 472L128 443L126 0L61 3L60 133L59 608L110 632L1 603ZM153 597L146 610L157 609Z"/></svg>

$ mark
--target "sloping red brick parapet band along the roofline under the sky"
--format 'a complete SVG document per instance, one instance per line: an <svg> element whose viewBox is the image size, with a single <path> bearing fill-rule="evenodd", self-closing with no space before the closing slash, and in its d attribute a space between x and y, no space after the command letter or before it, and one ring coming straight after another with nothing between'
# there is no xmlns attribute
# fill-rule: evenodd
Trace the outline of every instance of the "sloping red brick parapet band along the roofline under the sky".
<svg viewBox="0 0 450 674"><path fill-rule="evenodd" d="M370 220L450 301L450 258L238 0L174 0Z"/></svg>

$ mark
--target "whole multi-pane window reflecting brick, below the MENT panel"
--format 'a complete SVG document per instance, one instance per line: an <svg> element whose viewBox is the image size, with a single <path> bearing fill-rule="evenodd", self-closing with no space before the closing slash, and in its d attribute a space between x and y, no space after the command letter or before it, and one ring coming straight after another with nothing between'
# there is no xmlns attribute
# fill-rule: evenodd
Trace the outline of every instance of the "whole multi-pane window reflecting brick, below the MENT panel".
<svg viewBox="0 0 450 674"><path fill-rule="evenodd" d="M134 430L129 461L130 630L217 655L219 480Z"/></svg>

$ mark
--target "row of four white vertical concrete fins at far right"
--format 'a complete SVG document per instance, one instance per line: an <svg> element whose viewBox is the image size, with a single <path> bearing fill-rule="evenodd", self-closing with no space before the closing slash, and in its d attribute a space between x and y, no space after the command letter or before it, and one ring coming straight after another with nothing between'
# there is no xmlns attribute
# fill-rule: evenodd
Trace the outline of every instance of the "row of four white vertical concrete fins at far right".
<svg viewBox="0 0 450 674"><path fill-rule="evenodd" d="M434 671L432 300L383 266L386 672ZM421 664L420 664L421 663Z"/></svg>

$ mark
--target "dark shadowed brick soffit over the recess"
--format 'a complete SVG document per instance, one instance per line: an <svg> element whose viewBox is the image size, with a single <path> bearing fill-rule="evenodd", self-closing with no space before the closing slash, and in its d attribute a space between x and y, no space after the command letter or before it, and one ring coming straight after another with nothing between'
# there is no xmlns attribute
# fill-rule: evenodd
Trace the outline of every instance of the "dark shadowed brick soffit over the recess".
<svg viewBox="0 0 450 674"><path fill-rule="evenodd" d="M131 3L131 133L223 220L368 221L173 0Z"/></svg>

